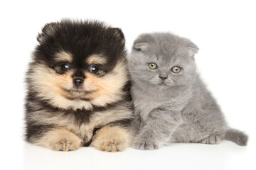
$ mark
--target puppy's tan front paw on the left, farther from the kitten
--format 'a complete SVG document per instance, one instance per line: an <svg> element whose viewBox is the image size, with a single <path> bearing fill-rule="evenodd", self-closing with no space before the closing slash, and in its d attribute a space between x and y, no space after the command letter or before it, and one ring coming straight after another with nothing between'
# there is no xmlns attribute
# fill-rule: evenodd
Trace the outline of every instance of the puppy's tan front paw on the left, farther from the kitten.
<svg viewBox="0 0 256 170"><path fill-rule="evenodd" d="M74 151L80 147L82 140L65 128L57 128L46 132L39 140L32 142L55 151Z"/></svg>

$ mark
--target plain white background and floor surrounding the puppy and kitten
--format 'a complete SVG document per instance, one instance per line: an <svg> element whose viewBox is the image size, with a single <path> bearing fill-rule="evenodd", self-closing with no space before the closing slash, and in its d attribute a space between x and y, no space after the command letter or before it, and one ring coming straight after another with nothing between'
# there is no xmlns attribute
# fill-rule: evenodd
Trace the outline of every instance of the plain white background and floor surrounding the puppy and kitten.
<svg viewBox="0 0 256 170"><path fill-rule="evenodd" d="M0 169L256 169L256 5L253 1L1 1ZM200 47L196 62L247 147L170 144L119 153L53 152L23 141L23 83L36 36L60 18L95 18L122 28L130 50L139 33L171 31Z"/></svg>

